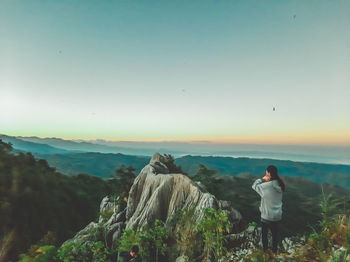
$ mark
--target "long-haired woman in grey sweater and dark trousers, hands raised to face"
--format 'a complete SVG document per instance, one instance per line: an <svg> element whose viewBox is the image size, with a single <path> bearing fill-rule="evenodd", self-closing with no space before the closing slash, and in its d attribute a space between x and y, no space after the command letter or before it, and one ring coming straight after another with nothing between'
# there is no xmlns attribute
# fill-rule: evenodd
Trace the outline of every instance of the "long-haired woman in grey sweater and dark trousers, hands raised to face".
<svg viewBox="0 0 350 262"><path fill-rule="evenodd" d="M257 179L252 188L261 196L261 237L264 251L268 248L267 231L272 233L272 252L277 253L278 221L282 219L282 195L286 187L277 174L275 166L268 166L262 179Z"/></svg>

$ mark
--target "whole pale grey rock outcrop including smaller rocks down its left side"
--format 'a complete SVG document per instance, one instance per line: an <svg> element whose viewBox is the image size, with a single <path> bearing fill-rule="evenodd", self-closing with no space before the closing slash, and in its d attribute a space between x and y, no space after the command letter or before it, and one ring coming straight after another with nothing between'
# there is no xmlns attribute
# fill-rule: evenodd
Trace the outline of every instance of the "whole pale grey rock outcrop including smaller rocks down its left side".
<svg viewBox="0 0 350 262"><path fill-rule="evenodd" d="M115 213L108 221L100 218L100 224L103 223L107 238L114 246L125 228L141 228L156 219L166 223L177 210L184 207L195 208L196 221L202 218L203 208L228 210L233 224L238 224L242 219L241 214L228 201L217 200L183 174L169 173L166 158L156 153L135 179L125 209L120 210L107 197L102 200L101 212L114 210ZM93 224L90 223L86 229L91 231ZM85 229L79 232L77 237L86 237L84 231Z"/></svg>

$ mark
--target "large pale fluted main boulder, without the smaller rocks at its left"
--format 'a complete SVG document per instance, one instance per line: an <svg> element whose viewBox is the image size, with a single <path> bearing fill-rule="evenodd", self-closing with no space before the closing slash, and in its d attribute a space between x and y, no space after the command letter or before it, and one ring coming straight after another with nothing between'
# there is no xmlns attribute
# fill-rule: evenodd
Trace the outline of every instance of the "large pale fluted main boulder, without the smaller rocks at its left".
<svg viewBox="0 0 350 262"><path fill-rule="evenodd" d="M126 210L126 228L135 229L155 219L167 222L178 209L195 206L196 218L202 208L226 209L231 222L242 217L227 201L218 201L183 174L169 174L162 156L155 154L131 187Z"/></svg>

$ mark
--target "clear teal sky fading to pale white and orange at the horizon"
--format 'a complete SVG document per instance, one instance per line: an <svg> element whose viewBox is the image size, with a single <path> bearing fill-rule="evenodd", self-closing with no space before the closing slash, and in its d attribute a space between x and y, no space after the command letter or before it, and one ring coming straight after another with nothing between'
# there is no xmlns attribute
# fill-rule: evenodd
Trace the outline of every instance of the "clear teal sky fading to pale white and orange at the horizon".
<svg viewBox="0 0 350 262"><path fill-rule="evenodd" d="M1 0L0 133L350 145L349 14L350 1Z"/></svg>

